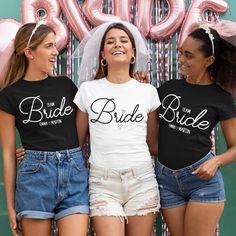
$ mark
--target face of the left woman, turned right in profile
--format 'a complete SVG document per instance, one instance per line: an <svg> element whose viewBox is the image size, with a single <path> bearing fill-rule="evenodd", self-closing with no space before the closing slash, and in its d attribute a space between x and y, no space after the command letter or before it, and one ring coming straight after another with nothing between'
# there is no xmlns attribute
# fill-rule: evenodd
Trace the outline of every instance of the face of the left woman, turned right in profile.
<svg viewBox="0 0 236 236"><path fill-rule="evenodd" d="M35 70L42 73L52 72L58 55L55 34L49 33L43 42L31 51L31 54L33 59L30 60L30 63Z"/></svg>

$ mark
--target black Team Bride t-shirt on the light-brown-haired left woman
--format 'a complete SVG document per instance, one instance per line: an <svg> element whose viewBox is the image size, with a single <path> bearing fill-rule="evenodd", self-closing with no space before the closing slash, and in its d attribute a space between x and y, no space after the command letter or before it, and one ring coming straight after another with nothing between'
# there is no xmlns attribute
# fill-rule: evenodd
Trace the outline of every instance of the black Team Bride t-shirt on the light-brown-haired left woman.
<svg viewBox="0 0 236 236"><path fill-rule="evenodd" d="M25 149L71 149L79 145L73 103L76 92L74 83L63 76L19 80L0 92L0 110L15 116Z"/></svg>

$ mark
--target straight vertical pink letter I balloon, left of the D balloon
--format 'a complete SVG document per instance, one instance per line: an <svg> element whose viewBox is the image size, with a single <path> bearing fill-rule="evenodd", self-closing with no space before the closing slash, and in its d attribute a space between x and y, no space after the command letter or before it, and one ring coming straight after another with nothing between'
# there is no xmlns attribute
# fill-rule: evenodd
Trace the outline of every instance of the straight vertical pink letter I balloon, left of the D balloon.
<svg viewBox="0 0 236 236"><path fill-rule="evenodd" d="M152 0L137 1L136 25L145 37L149 35L151 28Z"/></svg>

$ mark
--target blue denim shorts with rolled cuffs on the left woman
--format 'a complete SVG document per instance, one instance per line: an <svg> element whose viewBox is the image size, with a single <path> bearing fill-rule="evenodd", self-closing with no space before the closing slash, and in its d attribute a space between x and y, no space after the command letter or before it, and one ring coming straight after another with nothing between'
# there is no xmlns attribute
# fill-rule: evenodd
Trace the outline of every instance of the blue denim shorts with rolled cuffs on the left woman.
<svg viewBox="0 0 236 236"><path fill-rule="evenodd" d="M18 220L88 214L88 170L80 148L26 150L18 166L15 208Z"/></svg>

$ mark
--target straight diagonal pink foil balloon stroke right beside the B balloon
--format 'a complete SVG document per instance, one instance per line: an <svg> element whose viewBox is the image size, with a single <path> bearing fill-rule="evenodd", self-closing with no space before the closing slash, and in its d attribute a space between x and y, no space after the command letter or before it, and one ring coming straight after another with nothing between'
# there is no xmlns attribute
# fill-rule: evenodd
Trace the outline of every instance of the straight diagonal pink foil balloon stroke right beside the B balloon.
<svg viewBox="0 0 236 236"><path fill-rule="evenodd" d="M69 25L79 41L89 33L89 28L83 19L76 0L58 0Z"/></svg>

